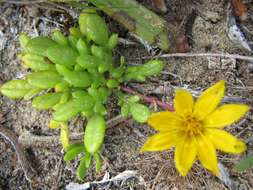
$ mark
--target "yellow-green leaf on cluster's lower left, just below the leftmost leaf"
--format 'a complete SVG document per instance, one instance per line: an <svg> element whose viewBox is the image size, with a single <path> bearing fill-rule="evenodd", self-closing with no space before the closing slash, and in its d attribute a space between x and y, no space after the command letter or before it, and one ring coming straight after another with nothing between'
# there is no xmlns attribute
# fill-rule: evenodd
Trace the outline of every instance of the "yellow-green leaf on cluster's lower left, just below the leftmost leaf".
<svg viewBox="0 0 253 190"><path fill-rule="evenodd" d="M32 106L37 109L49 109L59 103L61 97L61 92L44 94L34 98Z"/></svg>

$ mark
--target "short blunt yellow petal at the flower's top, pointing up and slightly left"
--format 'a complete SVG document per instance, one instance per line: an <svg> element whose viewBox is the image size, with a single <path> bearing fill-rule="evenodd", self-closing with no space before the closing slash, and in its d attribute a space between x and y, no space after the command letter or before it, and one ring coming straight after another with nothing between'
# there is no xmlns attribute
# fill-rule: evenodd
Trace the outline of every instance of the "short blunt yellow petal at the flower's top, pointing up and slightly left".
<svg viewBox="0 0 253 190"><path fill-rule="evenodd" d="M177 89L174 99L176 113L182 117L192 114L194 99L188 91Z"/></svg>

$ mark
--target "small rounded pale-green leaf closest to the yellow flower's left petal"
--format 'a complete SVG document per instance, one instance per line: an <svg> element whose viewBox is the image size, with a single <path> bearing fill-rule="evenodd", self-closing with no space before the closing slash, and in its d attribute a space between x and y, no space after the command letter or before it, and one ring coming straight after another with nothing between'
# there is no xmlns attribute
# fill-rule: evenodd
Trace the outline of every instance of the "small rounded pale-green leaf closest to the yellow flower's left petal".
<svg viewBox="0 0 253 190"><path fill-rule="evenodd" d="M134 118L134 120L144 123L148 120L148 117L150 115L149 109L139 103L133 103L130 105L130 112Z"/></svg>

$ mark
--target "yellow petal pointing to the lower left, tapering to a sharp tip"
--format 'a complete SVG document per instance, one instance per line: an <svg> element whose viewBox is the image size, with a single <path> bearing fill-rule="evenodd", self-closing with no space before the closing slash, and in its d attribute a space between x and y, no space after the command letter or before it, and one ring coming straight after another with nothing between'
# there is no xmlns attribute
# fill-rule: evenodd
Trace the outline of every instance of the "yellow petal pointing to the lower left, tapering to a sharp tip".
<svg viewBox="0 0 253 190"><path fill-rule="evenodd" d="M149 137L141 148L144 151L163 151L175 146L178 138L175 132L157 133Z"/></svg>

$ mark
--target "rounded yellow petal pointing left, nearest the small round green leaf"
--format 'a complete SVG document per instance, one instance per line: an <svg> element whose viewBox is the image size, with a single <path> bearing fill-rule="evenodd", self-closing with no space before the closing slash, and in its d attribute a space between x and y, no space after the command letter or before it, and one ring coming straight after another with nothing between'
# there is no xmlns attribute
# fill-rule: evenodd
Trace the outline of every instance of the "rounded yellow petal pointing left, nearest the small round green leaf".
<svg viewBox="0 0 253 190"><path fill-rule="evenodd" d="M182 126L182 120L174 112L157 112L148 118L148 124L157 131L171 131Z"/></svg>

